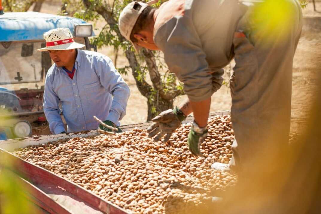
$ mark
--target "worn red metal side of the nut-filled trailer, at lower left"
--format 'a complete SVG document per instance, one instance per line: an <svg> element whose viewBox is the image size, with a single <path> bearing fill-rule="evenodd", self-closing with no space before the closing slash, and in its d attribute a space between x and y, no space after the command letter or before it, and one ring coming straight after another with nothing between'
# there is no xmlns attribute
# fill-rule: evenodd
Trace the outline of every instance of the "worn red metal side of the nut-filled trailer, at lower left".
<svg viewBox="0 0 321 214"><path fill-rule="evenodd" d="M33 196L33 198L28 198L50 213L127 213L124 209L63 177L55 175L5 150L0 149L0 152L2 157L13 160L13 171L26 179L22 179L22 182L28 186L28 192Z"/></svg>

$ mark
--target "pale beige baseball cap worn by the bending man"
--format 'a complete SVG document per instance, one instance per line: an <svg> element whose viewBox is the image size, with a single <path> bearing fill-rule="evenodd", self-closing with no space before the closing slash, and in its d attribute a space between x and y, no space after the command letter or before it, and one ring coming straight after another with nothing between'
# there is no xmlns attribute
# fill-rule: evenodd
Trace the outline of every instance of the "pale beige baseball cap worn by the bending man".
<svg viewBox="0 0 321 214"><path fill-rule="evenodd" d="M143 12L143 10L147 6L154 4L156 2L158 2L158 0L152 0L146 3L131 2L123 9L123 11L119 15L119 21L118 21L119 31L121 35L123 35L123 37L125 37L128 41L132 43L134 49L137 52L141 47L137 44L134 44L134 42L130 40L130 34L132 33L133 28L136 24L136 21L140 16L140 14Z"/></svg>

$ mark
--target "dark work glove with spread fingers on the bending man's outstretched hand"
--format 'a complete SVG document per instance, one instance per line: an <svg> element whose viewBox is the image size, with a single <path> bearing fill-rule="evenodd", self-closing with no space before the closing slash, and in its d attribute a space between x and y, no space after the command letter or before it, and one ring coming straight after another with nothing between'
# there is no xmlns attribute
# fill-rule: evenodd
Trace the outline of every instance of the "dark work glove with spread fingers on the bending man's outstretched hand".
<svg viewBox="0 0 321 214"><path fill-rule="evenodd" d="M178 107L161 112L152 119L152 122L154 123L147 128L147 132L149 133L148 137L152 138L159 133L154 138L154 142L157 142L166 134L163 142L167 142L172 133L181 126L182 121L185 120L185 118L186 116Z"/></svg>

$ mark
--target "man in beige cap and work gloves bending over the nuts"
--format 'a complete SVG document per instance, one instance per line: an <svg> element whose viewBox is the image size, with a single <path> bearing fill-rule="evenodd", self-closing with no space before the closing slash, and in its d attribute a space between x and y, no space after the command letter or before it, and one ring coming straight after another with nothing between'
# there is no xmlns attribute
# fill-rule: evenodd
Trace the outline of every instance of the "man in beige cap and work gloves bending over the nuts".
<svg viewBox="0 0 321 214"><path fill-rule="evenodd" d="M159 133L155 141L163 136L167 141L193 112L187 143L194 155L201 156L211 96L221 87L222 68L234 57L230 88L236 141L229 164L237 162L238 168L257 164L259 155L273 158L275 142L288 143L292 61L302 11L296 0L251 2L169 0L158 9L142 2L124 8L119 17L122 35L136 50L161 50L189 99L152 120L156 123L148 131L151 137ZM273 2L276 12L271 13Z"/></svg>

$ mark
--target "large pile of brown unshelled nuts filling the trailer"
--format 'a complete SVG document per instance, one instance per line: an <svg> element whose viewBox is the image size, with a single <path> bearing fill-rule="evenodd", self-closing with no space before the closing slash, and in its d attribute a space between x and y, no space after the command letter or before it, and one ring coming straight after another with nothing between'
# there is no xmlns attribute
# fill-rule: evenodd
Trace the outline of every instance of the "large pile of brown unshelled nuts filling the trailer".
<svg viewBox="0 0 321 214"><path fill-rule="evenodd" d="M187 148L190 127L182 124L167 143L153 142L146 130L134 128L30 146L14 154L129 212L211 212L213 192L237 181L234 174L211 169L214 162L228 163L234 132L230 116L210 118L200 146L204 157L195 157Z"/></svg>

